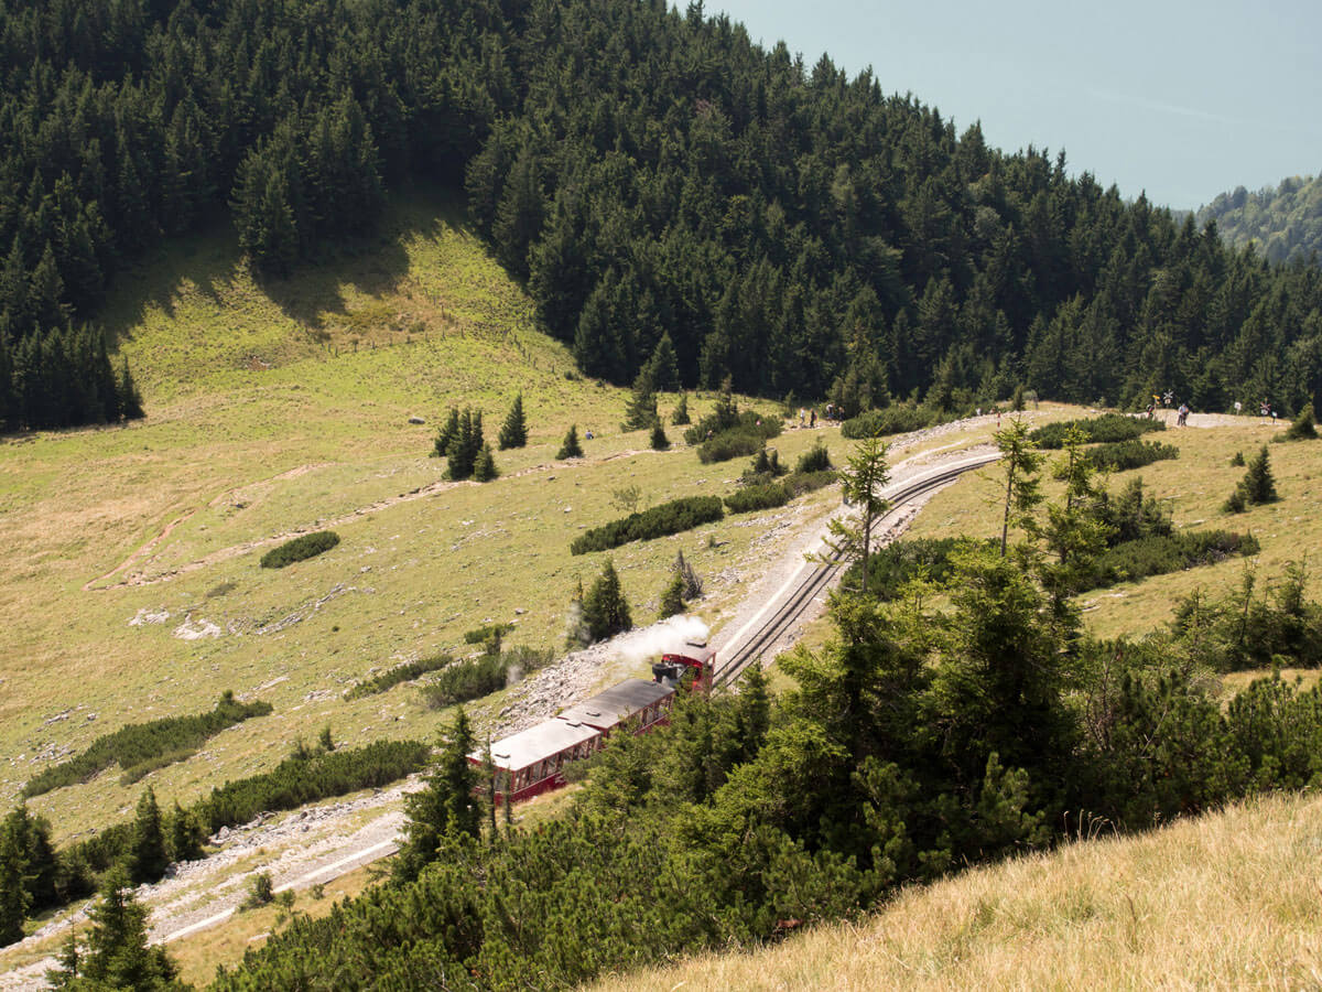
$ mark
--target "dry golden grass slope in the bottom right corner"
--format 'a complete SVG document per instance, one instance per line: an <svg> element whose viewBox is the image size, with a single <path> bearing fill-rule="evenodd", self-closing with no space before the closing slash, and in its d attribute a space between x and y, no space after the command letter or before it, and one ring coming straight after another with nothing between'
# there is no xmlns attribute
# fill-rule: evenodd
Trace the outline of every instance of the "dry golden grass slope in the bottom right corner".
<svg viewBox="0 0 1322 992"><path fill-rule="evenodd" d="M973 869L854 923L596 988L1315 988L1319 849L1322 798L1269 796Z"/></svg>

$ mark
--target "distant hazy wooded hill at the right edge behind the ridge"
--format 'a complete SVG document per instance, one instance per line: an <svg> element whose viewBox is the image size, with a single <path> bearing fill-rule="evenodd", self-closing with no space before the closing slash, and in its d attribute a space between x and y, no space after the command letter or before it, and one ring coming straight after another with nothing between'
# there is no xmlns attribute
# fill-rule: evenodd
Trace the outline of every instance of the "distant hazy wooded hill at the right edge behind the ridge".
<svg viewBox="0 0 1322 992"><path fill-rule="evenodd" d="M1198 212L1198 226L1207 221L1216 221L1236 247L1257 242L1273 262L1311 258L1322 253L1322 176L1292 176L1256 193L1244 186L1222 193Z"/></svg>

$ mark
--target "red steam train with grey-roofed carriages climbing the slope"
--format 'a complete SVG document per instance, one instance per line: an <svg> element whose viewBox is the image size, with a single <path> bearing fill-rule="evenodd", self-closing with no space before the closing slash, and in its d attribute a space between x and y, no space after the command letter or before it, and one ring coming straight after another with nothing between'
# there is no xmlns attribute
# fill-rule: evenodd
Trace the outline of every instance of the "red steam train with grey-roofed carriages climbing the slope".
<svg viewBox="0 0 1322 992"><path fill-rule="evenodd" d="M627 679L603 693L562 710L554 720L492 742L492 763L510 802L531 799L564 784L564 768L599 750L615 730L641 734L670 722L676 693L709 692L717 652L706 644L686 644L685 653L665 653L652 665L652 681ZM485 751L468 755L483 766Z"/></svg>

